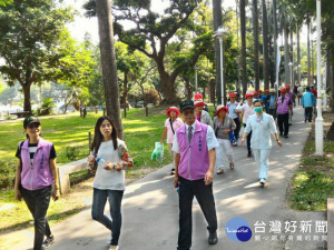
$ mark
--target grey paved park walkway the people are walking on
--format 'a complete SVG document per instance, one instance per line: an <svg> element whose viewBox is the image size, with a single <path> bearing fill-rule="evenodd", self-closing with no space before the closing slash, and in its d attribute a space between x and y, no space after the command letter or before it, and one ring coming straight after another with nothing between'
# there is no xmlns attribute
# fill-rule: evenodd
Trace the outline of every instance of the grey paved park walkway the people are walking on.
<svg viewBox="0 0 334 250"><path fill-rule="evenodd" d="M193 208L193 250L320 250L325 249L322 234L314 232L316 220L326 220L325 212L296 212L286 208L286 191L289 180L297 169L303 146L311 130L303 122L302 108L295 109L289 138L282 138L283 148L274 146L271 154L271 169L267 184L257 182L254 159L246 157L246 147L235 148L235 170L227 170L214 179L214 194L218 217L218 238L216 246L207 244L206 222L194 200ZM124 223L120 238L121 250L173 250L178 234L178 196L173 188L173 177L168 176L170 166L134 182L127 188L122 202ZM253 238L247 242L235 242L227 238L225 226L234 217L248 221ZM269 221L283 223L282 233L269 232ZM285 232L284 221L312 221L312 232ZM254 224L266 223L265 233L255 233ZM106 250L108 231L90 218L90 207L72 218L52 227L56 242L50 250ZM29 249L32 233L21 231L20 242L11 249ZM261 241L256 238L262 237ZM276 237L277 238L276 238ZM288 240L292 236L293 240ZM302 237L302 241L297 237ZM311 236L308 241L305 237ZM314 240L314 236L320 236ZM272 238L273 237L273 238Z"/></svg>

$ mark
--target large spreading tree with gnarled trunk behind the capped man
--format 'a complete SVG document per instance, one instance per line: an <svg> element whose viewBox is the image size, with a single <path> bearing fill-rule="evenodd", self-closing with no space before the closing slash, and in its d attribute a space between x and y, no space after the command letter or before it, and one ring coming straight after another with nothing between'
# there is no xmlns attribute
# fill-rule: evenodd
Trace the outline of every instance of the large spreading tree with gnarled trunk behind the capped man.
<svg viewBox="0 0 334 250"><path fill-rule="evenodd" d="M112 9L115 18L115 33L119 41L134 50L139 50L151 58L158 69L161 89L167 102L178 102L175 90L175 80L180 69L170 69L166 66L165 57L168 42L177 38L179 47L185 42L186 37L179 36L179 30L185 28L200 34L200 27L189 20L202 0L171 0L170 6L164 10L164 14L155 12L150 8L150 1L114 1ZM89 14L94 14L94 1L86 4ZM122 21L131 22L135 28L125 29ZM149 44L149 49L147 48ZM178 47L178 48L179 48ZM199 52L199 50L198 50ZM177 53L177 50L174 51ZM194 54L193 67L199 54Z"/></svg>

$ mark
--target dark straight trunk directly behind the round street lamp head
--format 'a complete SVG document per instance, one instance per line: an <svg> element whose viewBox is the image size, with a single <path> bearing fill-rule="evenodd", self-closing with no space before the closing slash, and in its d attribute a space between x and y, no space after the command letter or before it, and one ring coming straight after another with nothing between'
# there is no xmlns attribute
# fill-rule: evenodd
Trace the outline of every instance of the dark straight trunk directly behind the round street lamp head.
<svg viewBox="0 0 334 250"><path fill-rule="evenodd" d="M213 0L214 11L214 30L216 31L219 26L223 26L222 17L222 0ZM222 103L222 88L220 88L220 44L219 39L215 38L215 63L216 63L216 100Z"/></svg>

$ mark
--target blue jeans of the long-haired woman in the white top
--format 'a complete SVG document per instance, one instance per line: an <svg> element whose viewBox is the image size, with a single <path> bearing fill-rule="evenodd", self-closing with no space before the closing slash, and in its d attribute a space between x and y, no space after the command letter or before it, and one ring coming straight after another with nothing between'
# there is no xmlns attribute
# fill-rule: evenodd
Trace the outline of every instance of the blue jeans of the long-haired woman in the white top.
<svg viewBox="0 0 334 250"><path fill-rule="evenodd" d="M121 227L121 199L124 191L94 189L91 218L111 231L111 244L118 246ZM109 198L111 220L105 214L105 207Z"/></svg>

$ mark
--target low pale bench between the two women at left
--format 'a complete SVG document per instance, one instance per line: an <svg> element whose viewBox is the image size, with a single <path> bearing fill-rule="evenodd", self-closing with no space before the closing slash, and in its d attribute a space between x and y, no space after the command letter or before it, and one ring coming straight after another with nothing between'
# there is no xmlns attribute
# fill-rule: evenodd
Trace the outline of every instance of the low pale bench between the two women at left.
<svg viewBox="0 0 334 250"><path fill-rule="evenodd" d="M87 164L87 159L82 159L67 164L58 166L57 169L58 169L58 177L59 177L59 189L60 189L59 191L61 194L63 194L70 190L69 174L89 169L89 167Z"/></svg>

